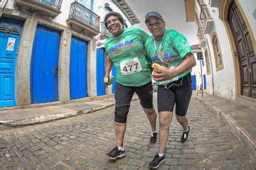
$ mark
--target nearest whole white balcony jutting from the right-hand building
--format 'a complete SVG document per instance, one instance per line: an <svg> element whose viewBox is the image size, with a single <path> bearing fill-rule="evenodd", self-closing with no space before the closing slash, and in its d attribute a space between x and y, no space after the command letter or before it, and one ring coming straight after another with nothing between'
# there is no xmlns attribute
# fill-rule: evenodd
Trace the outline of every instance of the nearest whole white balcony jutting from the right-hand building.
<svg viewBox="0 0 256 170"><path fill-rule="evenodd" d="M203 26L203 33L209 34L210 29L213 26L213 19L210 16L210 13L208 11L206 4L201 4L200 20Z"/></svg>

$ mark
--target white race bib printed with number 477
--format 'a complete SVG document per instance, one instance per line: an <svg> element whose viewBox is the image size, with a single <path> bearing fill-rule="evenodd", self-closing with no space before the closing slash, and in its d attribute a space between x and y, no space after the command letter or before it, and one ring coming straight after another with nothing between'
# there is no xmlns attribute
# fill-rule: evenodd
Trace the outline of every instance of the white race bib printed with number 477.
<svg viewBox="0 0 256 170"><path fill-rule="evenodd" d="M129 75L142 71L142 65L140 64L138 57L136 57L132 60L121 62L120 69L122 75Z"/></svg>

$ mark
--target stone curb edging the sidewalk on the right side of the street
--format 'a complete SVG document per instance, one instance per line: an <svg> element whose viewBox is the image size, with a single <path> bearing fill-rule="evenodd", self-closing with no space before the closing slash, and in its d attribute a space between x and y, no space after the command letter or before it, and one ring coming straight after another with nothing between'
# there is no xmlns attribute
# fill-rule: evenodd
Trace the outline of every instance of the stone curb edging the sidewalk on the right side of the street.
<svg viewBox="0 0 256 170"><path fill-rule="evenodd" d="M203 100L203 98L196 96L195 97L198 101L201 101L205 104L208 108L210 108L210 111L213 111L215 115L225 123L228 130L235 135L235 137L240 140L242 143L242 146L245 148L246 152L249 154L250 159L252 159L252 163L256 164L256 145L254 142L250 140L250 137L248 137L244 129L238 125L236 120L233 120L229 115L225 114L225 112L221 111L221 109L211 105L208 101Z"/></svg>

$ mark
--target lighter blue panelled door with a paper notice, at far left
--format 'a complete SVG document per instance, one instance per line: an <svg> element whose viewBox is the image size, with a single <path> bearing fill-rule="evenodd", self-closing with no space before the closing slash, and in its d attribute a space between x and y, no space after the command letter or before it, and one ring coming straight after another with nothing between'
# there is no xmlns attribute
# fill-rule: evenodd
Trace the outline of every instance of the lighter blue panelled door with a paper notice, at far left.
<svg viewBox="0 0 256 170"><path fill-rule="evenodd" d="M19 35L0 33L0 107L15 106L15 66Z"/></svg>

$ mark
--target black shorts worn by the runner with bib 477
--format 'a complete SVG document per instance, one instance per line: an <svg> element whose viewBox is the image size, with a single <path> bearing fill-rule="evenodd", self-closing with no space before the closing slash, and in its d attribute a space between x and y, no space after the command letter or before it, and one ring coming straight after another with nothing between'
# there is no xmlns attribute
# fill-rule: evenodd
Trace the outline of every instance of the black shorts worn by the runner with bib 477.
<svg viewBox="0 0 256 170"><path fill-rule="evenodd" d="M151 81L143 86L124 86L117 83L114 98L115 107L130 106L134 92L139 96L143 108L153 108L153 87Z"/></svg>

